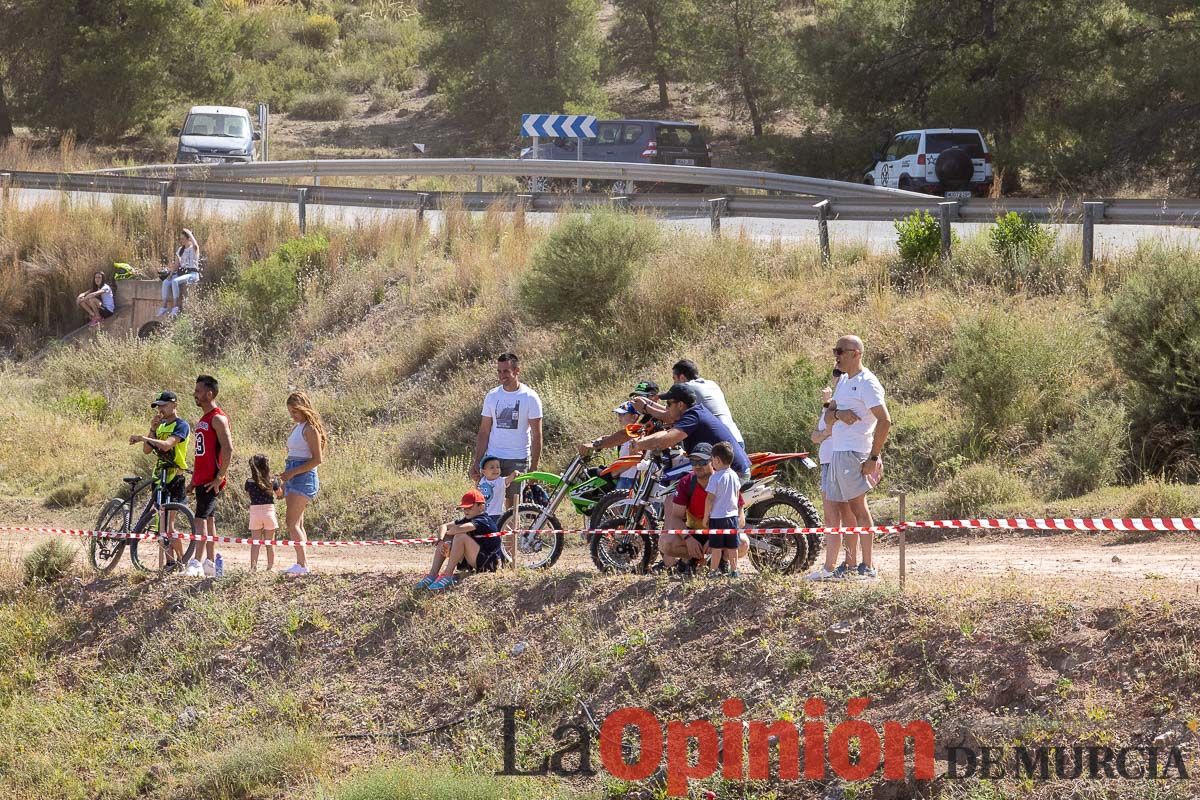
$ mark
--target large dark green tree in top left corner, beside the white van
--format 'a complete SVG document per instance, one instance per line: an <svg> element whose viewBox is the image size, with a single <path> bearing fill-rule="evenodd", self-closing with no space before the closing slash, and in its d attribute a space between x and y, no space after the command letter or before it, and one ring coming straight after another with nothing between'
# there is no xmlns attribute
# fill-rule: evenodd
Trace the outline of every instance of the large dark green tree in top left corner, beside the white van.
<svg viewBox="0 0 1200 800"><path fill-rule="evenodd" d="M220 10L190 0L0 5L14 115L84 139L113 140L148 130L172 104L223 98L232 50Z"/></svg>

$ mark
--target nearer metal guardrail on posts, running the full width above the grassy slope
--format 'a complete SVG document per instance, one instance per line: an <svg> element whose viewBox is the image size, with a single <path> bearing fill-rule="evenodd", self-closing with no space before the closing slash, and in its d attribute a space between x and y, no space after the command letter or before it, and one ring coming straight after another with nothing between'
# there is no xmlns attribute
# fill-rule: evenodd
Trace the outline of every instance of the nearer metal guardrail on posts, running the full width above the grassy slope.
<svg viewBox="0 0 1200 800"><path fill-rule="evenodd" d="M421 161L421 160L403 160ZM304 162L310 163L310 162ZM554 162L547 162L554 163ZM572 162L577 163L577 162ZM588 163L588 162L583 162ZM158 198L252 200L259 203L299 203L300 191L307 205L350 206L364 209L436 210L461 204L469 211L494 205L521 206L529 211L559 211L569 207L595 207L624 204L628 207L666 215L709 217L713 201L704 194L631 194L613 198L607 194L539 193L510 194L497 192L418 192L413 190L354 188L340 186L292 186L286 184L242 184L238 181L155 179L97 173L0 173L0 181L12 188L38 188L64 192L136 194ZM809 179L806 179L809 180ZM865 188L865 187L864 187ZM899 197L896 197L899 194ZM817 219L821 212L812 199L731 194L721 198L726 217L763 217L780 219ZM892 221L918 209L937 216L947 201L940 197L912 192L890 192L883 197L829 199L828 219ZM1103 206L1097 223L1200 225L1200 199L1096 200ZM1099 210L1099 209L1098 209ZM1037 198L972 198L958 200L950 211L953 221L992 222L1008 211L1025 213L1039 222L1079 223L1085 215L1082 200Z"/></svg>

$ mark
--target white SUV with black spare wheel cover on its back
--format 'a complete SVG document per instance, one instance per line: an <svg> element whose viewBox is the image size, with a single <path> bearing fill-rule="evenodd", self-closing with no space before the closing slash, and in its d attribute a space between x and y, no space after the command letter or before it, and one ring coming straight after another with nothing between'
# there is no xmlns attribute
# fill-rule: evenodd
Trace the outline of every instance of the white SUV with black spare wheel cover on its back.
<svg viewBox="0 0 1200 800"><path fill-rule="evenodd" d="M948 198L991 192L991 154L973 128L924 128L895 134L876 151L864 184Z"/></svg>

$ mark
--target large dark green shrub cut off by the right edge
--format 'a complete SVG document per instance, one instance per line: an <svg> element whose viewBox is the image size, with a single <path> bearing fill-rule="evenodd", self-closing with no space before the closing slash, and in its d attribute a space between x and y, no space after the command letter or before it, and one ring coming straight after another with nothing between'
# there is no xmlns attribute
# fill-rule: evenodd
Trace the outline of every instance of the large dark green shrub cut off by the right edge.
<svg viewBox="0 0 1200 800"><path fill-rule="evenodd" d="M1151 470L1195 452L1200 431L1200 257L1154 251L1116 291L1104 331L1117 367L1140 389L1135 435Z"/></svg>

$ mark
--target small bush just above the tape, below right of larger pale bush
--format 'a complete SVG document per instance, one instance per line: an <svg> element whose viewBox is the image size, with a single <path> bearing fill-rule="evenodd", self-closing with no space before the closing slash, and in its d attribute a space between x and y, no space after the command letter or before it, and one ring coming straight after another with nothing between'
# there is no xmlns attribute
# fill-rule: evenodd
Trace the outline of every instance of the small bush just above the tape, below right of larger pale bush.
<svg viewBox="0 0 1200 800"><path fill-rule="evenodd" d="M1050 469L1058 497L1079 497L1116 481L1129 452L1126 409L1112 401L1085 405L1069 429L1050 441Z"/></svg>

